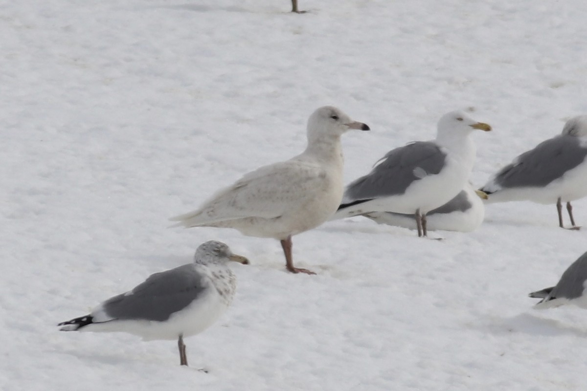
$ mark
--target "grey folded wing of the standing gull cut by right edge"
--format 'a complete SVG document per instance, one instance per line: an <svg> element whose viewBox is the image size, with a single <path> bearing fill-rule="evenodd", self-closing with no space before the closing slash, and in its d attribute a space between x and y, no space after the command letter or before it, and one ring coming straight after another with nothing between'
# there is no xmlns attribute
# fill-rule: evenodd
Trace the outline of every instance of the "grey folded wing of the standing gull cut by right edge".
<svg viewBox="0 0 587 391"><path fill-rule="evenodd" d="M519 155L495 175L495 182L502 188L546 186L581 164L585 156L587 147L579 138L560 135Z"/></svg>

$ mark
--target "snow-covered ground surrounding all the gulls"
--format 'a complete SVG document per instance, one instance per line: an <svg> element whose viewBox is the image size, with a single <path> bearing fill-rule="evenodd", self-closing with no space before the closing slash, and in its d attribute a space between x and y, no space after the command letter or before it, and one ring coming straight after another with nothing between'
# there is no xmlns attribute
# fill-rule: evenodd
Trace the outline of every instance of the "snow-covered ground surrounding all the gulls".
<svg viewBox="0 0 587 391"><path fill-rule="evenodd" d="M587 250L555 206L487 208L473 233L353 218L279 243L167 229L245 172L298 154L315 108L346 182L457 108L473 182L587 113L587 2L45 0L0 3L0 389L582 390L587 312L531 309ZM587 199L573 203L587 225ZM58 332L59 321L228 243L237 297L173 341ZM208 373L198 371L206 368Z"/></svg>

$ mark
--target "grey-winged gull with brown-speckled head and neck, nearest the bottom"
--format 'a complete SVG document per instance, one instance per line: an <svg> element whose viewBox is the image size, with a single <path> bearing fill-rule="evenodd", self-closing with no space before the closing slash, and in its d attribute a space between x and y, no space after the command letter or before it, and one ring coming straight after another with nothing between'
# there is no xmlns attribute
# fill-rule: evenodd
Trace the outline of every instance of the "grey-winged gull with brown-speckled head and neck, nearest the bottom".
<svg viewBox="0 0 587 391"><path fill-rule="evenodd" d="M210 240L195 251L193 263L151 274L133 290L58 326L62 331L128 332L145 341L177 338L180 364L187 365L183 337L210 327L232 302L237 280L229 260L248 264L226 244Z"/></svg>

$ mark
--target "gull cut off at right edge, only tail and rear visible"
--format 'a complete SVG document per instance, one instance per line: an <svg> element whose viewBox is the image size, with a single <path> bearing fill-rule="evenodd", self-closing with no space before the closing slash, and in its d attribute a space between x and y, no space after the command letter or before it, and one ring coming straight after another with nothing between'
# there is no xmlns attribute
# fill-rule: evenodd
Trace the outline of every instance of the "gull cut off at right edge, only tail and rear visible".
<svg viewBox="0 0 587 391"><path fill-rule="evenodd" d="M541 298L535 308L554 308L565 304L574 304L587 309L587 294L585 293L585 282L587 281L587 253L569 266L565 273L562 273L561 280L555 287L545 288L541 291L532 292L529 297Z"/></svg>

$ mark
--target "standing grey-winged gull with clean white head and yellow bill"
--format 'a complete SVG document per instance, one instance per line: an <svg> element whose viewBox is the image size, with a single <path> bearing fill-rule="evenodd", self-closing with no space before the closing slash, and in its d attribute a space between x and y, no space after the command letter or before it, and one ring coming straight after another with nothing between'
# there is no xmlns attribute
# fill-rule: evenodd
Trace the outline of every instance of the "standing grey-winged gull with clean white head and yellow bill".
<svg viewBox="0 0 587 391"><path fill-rule="evenodd" d="M426 214L460 192L473 169L475 129L490 131L463 111L451 111L438 121L436 139L392 149L375 168L345 191L332 219L372 212L409 213L418 236L427 236Z"/></svg>

